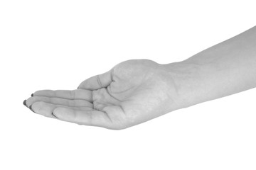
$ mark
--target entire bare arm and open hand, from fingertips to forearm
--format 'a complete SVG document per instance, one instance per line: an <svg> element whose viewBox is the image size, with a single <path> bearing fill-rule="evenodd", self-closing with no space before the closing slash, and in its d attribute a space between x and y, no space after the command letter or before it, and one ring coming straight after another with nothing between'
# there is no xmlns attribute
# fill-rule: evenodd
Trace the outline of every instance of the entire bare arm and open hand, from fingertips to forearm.
<svg viewBox="0 0 256 170"><path fill-rule="evenodd" d="M121 130L256 86L256 27L182 62L128 60L77 90L41 90L24 101L49 118Z"/></svg>

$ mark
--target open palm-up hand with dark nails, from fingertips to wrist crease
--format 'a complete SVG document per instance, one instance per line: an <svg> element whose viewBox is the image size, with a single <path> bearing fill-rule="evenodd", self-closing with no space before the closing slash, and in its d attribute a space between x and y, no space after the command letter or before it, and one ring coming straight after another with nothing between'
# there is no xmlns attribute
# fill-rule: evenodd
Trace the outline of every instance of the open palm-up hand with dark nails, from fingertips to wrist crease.
<svg viewBox="0 0 256 170"><path fill-rule="evenodd" d="M124 129L175 110L177 98L164 65L129 60L83 81L78 90L36 91L24 103L50 118Z"/></svg>

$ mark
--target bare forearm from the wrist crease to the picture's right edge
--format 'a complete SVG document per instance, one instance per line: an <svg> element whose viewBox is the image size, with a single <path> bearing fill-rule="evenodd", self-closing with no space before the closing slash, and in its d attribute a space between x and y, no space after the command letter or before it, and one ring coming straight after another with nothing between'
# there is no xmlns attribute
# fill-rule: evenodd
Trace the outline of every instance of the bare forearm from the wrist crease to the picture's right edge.
<svg viewBox="0 0 256 170"><path fill-rule="evenodd" d="M252 89L256 87L256 27L167 65L176 72L181 107Z"/></svg>

